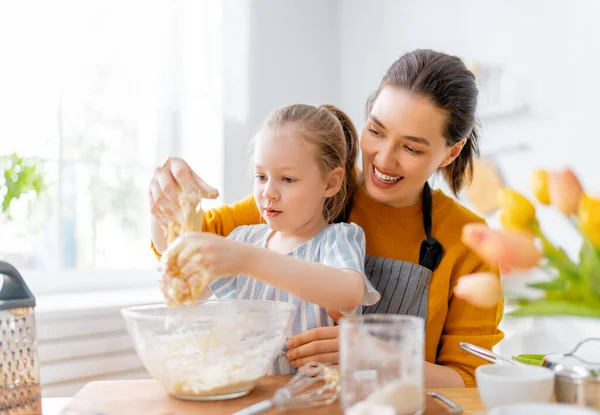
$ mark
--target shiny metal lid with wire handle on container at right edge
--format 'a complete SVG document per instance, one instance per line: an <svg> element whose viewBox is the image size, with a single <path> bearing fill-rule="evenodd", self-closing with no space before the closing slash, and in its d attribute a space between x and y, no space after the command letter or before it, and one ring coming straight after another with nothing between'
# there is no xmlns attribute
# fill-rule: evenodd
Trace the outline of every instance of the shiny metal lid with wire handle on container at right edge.
<svg viewBox="0 0 600 415"><path fill-rule="evenodd" d="M584 344L592 342L598 342L598 345L591 345L595 348L595 353L590 358L580 349ZM552 369L560 378L600 382L600 338L592 337L582 340L566 354L547 355L544 357L543 366Z"/></svg>

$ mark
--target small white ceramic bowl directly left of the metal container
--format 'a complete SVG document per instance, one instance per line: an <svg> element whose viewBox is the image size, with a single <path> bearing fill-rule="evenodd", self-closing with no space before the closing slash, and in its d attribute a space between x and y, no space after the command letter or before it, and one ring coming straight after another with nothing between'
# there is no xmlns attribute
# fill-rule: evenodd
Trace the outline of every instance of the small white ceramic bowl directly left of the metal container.
<svg viewBox="0 0 600 415"><path fill-rule="evenodd" d="M483 365L475 370L477 389L487 409L525 402L550 402L554 372L540 366Z"/></svg>

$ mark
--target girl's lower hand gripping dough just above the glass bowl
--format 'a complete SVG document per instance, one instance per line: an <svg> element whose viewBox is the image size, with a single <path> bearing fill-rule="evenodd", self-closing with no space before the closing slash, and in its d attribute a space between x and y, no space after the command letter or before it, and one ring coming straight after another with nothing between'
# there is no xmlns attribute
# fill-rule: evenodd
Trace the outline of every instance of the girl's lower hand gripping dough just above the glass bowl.
<svg viewBox="0 0 600 415"><path fill-rule="evenodd" d="M256 260L256 248L250 244L204 232L179 237L172 248L178 251L177 267L182 275L194 275L203 268L211 278L245 273L247 258Z"/></svg>

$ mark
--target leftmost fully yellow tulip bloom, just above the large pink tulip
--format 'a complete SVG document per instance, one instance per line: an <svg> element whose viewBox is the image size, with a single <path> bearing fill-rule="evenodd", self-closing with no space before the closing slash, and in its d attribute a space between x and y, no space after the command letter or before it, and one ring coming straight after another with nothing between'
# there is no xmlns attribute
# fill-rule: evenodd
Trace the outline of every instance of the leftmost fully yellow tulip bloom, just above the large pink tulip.
<svg viewBox="0 0 600 415"><path fill-rule="evenodd" d="M529 231L536 223L535 207L522 194L508 188L498 193L500 222L509 231Z"/></svg>

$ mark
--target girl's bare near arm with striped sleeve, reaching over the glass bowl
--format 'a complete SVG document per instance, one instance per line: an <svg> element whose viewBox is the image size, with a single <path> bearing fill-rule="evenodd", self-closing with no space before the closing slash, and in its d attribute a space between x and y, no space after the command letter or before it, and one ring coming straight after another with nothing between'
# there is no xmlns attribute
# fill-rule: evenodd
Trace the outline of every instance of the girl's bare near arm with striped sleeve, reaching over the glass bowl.
<svg viewBox="0 0 600 415"><path fill-rule="evenodd" d="M245 229L244 229L245 228ZM189 233L178 240L182 247L178 266L184 275L194 275L198 267L213 277L249 275L285 290L306 301L336 311L353 312L361 303L379 299L366 281L364 233L356 225L338 224L327 230L318 260L311 262L242 242L250 228L236 229L232 238L210 233ZM232 291L230 278L211 283L218 297Z"/></svg>

